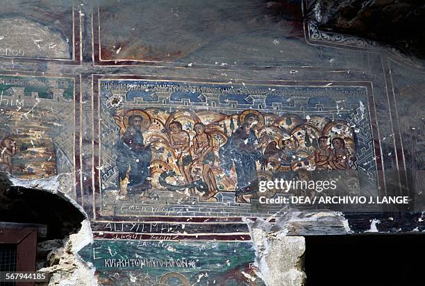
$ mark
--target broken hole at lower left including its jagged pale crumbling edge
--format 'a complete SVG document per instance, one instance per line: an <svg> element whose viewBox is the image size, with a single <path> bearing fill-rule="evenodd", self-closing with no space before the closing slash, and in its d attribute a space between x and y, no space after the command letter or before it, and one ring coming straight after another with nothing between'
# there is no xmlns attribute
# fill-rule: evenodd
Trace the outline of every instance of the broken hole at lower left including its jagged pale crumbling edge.
<svg viewBox="0 0 425 286"><path fill-rule="evenodd" d="M38 189L40 186L43 190ZM54 179L30 183L0 172L0 217L47 225L50 240L38 243L36 267L49 272L51 280L39 285L97 285L94 269L77 254L92 242L90 223L83 221L86 215L81 206L56 187Z"/></svg>

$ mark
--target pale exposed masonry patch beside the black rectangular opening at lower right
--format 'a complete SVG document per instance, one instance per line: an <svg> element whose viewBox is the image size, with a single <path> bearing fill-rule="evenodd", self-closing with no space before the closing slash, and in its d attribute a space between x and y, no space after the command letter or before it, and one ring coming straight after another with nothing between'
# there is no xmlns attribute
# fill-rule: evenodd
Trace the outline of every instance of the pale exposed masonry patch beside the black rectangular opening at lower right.
<svg viewBox="0 0 425 286"><path fill-rule="evenodd" d="M267 285L304 285L304 237L329 233L348 234L348 221L338 212L285 212L274 224L267 220L247 220L254 249L256 266Z"/></svg>

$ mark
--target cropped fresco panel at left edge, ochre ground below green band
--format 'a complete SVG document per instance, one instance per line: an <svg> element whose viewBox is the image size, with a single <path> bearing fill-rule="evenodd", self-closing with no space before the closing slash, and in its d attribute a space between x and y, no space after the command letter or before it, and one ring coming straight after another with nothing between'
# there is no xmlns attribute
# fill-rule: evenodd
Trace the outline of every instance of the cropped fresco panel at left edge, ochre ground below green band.
<svg viewBox="0 0 425 286"><path fill-rule="evenodd" d="M0 75L0 170L76 199L74 78Z"/></svg>

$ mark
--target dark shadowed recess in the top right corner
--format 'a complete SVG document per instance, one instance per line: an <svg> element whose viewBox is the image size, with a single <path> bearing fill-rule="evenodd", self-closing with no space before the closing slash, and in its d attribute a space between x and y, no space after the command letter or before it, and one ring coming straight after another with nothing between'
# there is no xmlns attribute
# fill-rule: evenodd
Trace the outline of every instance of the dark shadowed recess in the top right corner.
<svg viewBox="0 0 425 286"><path fill-rule="evenodd" d="M425 58L423 0L313 0L307 14L322 31L358 35Z"/></svg>

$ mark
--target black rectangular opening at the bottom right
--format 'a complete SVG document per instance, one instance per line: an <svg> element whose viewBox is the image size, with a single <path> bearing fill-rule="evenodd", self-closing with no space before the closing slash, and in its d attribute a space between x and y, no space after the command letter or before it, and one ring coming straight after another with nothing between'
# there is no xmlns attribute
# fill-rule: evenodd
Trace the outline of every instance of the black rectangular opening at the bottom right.
<svg viewBox="0 0 425 286"><path fill-rule="evenodd" d="M307 286L424 285L423 235L306 237Z"/></svg>

